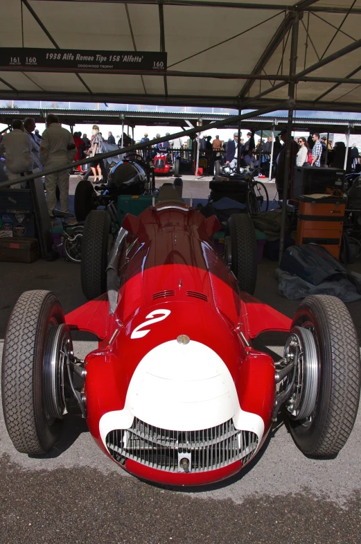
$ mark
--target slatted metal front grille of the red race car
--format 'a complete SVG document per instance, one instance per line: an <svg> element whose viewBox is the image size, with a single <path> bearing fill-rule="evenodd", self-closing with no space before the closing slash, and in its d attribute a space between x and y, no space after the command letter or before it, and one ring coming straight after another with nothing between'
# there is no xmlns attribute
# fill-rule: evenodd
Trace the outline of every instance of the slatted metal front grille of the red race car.
<svg viewBox="0 0 361 544"><path fill-rule="evenodd" d="M186 458L192 473L212 471L238 460L247 463L256 453L258 436L236 430L231 419L209 429L177 431L134 418L131 428L109 432L106 444L110 455L122 465L133 459L161 471L183 472L181 461Z"/></svg>

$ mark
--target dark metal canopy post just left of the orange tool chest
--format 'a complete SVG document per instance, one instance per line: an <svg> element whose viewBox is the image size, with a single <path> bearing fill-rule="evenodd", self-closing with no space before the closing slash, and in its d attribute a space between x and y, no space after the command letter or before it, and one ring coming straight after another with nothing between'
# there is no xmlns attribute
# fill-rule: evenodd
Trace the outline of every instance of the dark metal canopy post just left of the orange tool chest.
<svg viewBox="0 0 361 544"><path fill-rule="evenodd" d="M294 74L296 73L297 64L297 47L299 41L299 12L294 12L292 22L292 39L291 39L291 55L290 55L290 82L288 84L288 96L290 100L294 99ZM282 199L282 218L281 218L281 233L279 237L279 262L283 255L283 248L285 247L285 221L287 211L287 195L288 195L288 180L290 175L290 165L294 157L291 157L291 145L292 145L292 118L293 118L293 105L288 109L288 122L287 122L287 140L286 140L286 152L285 152L285 170L283 176L283 199Z"/></svg>

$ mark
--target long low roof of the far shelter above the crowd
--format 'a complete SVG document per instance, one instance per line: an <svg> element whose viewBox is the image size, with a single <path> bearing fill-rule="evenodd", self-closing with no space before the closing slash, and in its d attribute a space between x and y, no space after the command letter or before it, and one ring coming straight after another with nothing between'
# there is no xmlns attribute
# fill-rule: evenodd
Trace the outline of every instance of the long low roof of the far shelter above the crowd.
<svg viewBox="0 0 361 544"><path fill-rule="evenodd" d="M14 119L25 119L33 117L37 123L44 123L46 116L54 113L59 117L60 123L64 125L82 125L82 124L106 124L121 125L124 117L125 126L168 126L182 127L188 129L190 125L197 126L200 118L203 125L208 125L211 121L220 121L227 116L224 114L167 114L164 112L127 112L118 110L86 110L86 109L0 109L0 123L10 125ZM188 121L188 123L187 123ZM254 116L244 121L247 129L256 131L270 131L275 124L275 130L279 131L286 128L288 118L281 115ZM351 126L351 134L361 134L361 119L320 119L317 117L297 117L294 119L294 130L298 132L337 132L345 134ZM237 128L238 123L224 125L224 128ZM201 129L200 129L201 130Z"/></svg>

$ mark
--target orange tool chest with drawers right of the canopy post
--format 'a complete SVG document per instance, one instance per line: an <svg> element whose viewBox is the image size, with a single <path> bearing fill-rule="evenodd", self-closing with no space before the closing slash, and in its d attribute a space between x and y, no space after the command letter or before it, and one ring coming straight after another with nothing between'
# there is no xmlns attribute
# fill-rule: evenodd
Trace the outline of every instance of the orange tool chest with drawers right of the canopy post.
<svg viewBox="0 0 361 544"><path fill-rule="evenodd" d="M314 243L340 257L346 200L330 195L301 195L297 221L297 244Z"/></svg>

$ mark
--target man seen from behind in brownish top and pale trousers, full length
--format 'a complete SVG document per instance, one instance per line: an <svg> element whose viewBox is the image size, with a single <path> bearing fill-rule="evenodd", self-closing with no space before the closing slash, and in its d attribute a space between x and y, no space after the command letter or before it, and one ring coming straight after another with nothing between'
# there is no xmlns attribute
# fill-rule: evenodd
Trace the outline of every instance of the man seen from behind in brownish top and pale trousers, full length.
<svg viewBox="0 0 361 544"><path fill-rule="evenodd" d="M70 164L76 156L76 144L71 133L62 128L56 115L50 114L46 118L48 128L42 134L40 144L40 161L47 168ZM46 201L49 216L53 217L56 208L56 186L60 189L60 209L69 211L69 170L63 170L45 177Z"/></svg>

